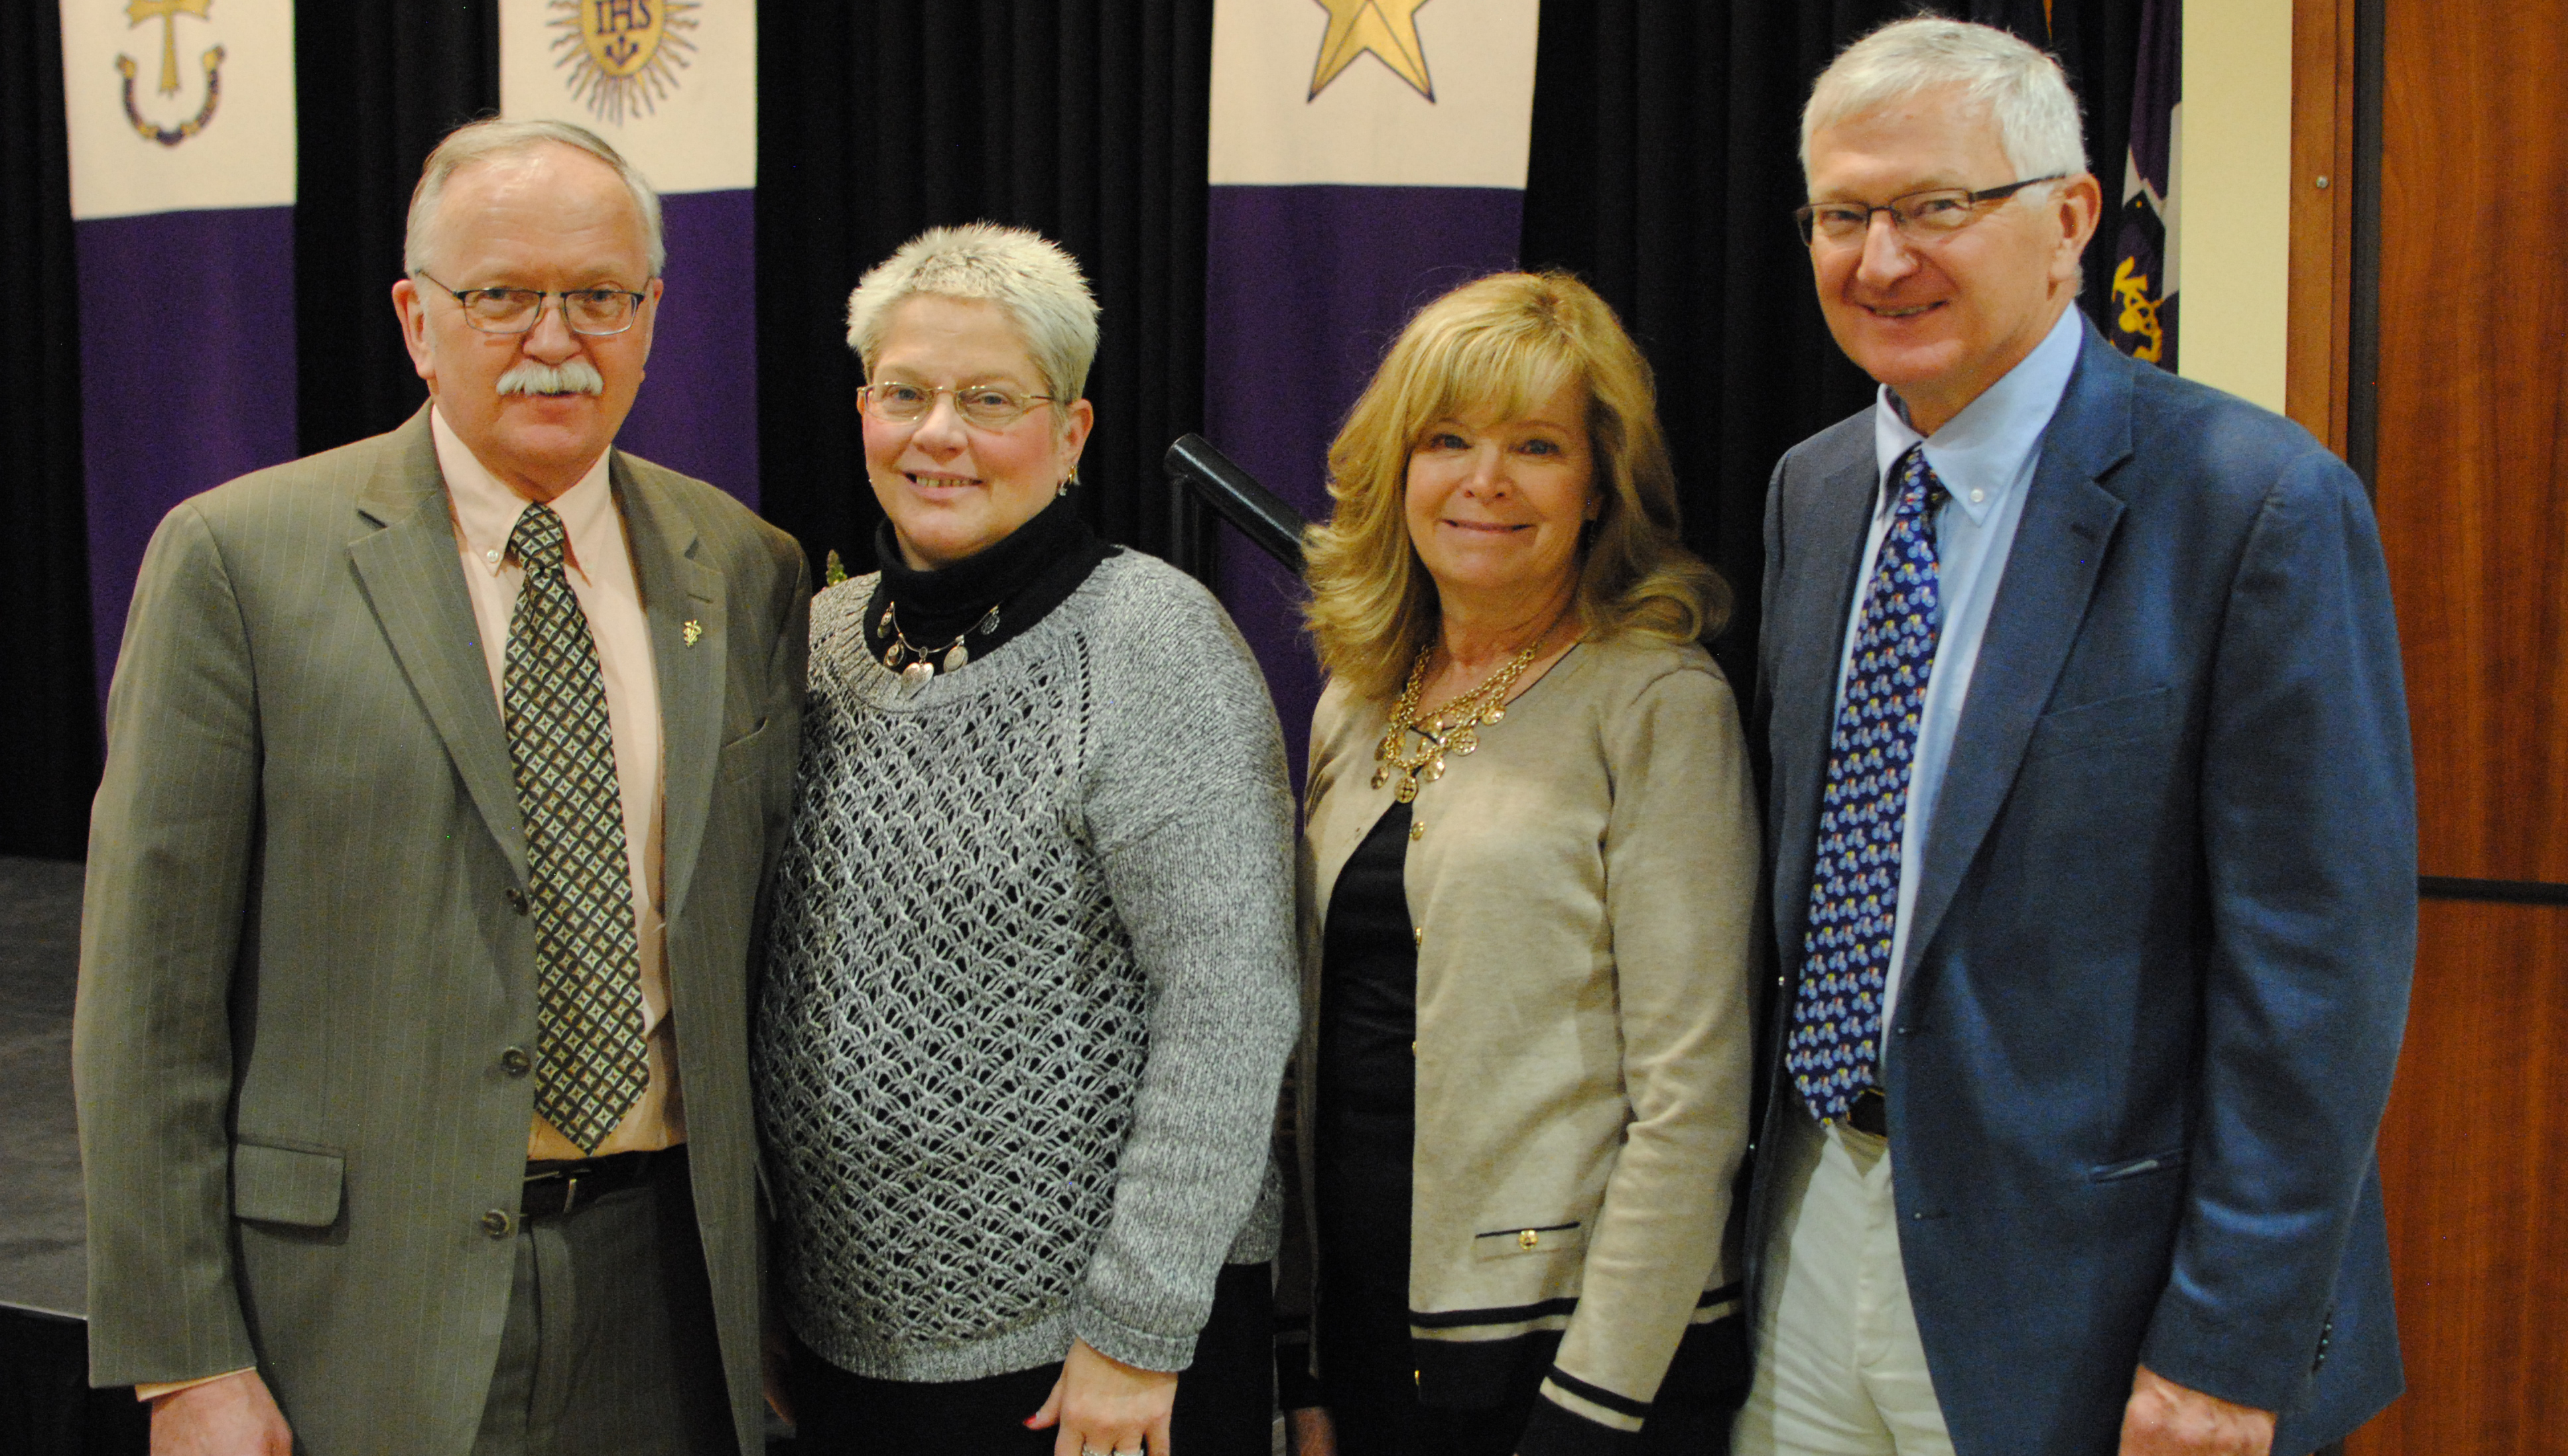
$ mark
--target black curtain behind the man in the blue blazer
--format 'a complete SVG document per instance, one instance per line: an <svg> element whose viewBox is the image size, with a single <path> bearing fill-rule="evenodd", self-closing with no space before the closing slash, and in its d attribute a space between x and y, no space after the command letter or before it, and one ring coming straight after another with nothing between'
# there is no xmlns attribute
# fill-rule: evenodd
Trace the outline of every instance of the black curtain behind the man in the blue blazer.
<svg viewBox="0 0 2568 1456"><path fill-rule="evenodd" d="M1757 647L1767 475L1798 439L1872 401L1872 380L1828 339L1790 223L1805 198L1800 105L1839 49L1916 10L1543 3L1523 262L1592 282L1649 354L1687 544L1739 593L1713 652L1741 688ZM1975 0L1947 13L2060 54L2111 200L2131 128L2139 0ZM2090 311L2106 298L2111 247L2098 234L2088 249Z"/></svg>

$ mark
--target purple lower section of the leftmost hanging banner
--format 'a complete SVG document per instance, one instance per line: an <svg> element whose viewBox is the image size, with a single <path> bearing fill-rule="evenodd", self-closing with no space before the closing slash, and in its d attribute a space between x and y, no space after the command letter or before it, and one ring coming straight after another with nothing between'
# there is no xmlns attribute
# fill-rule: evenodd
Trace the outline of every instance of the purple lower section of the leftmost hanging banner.
<svg viewBox="0 0 2568 1456"><path fill-rule="evenodd" d="M105 701L169 506L295 457L295 211L74 223L90 621Z"/></svg>

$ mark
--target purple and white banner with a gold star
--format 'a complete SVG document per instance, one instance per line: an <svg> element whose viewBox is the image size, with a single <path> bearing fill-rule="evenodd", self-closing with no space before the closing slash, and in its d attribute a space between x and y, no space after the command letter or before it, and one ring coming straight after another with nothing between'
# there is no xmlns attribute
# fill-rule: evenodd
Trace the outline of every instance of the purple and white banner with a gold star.
<svg viewBox="0 0 2568 1456"><path fill-rule="evenodd" d="M1204 437L1320 519L1328 442L1420 303L1515 264L1538 0L1217 0ZM1302 585L1222 537L1299 778Z"/></svg>

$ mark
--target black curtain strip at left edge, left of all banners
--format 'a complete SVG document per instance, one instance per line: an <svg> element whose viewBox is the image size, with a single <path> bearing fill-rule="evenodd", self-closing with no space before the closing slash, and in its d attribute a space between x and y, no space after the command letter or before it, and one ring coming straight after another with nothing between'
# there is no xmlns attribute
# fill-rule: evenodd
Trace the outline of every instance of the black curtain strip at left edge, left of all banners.
<svg viewBox="0 0 2568 1456"><path fill-rule="evenodd" d="M0 855L77 860L98 788L90 668L90 547L80 475L80 288L72 167L62 136L62 13L0 5L0 470L10 521L0 575L15 621L0 632Z"/></svg>

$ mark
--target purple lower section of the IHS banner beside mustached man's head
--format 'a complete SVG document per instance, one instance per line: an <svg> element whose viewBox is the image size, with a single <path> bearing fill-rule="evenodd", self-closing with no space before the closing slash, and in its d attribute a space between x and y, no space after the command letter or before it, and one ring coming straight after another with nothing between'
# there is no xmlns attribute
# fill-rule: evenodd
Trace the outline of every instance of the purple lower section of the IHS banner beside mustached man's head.
<svg viewBox="0 0 2568 1456"><path fill-rule="evenodd" d="M758 193L660 198L668 293L616 444L758 508Z"/></svg>

